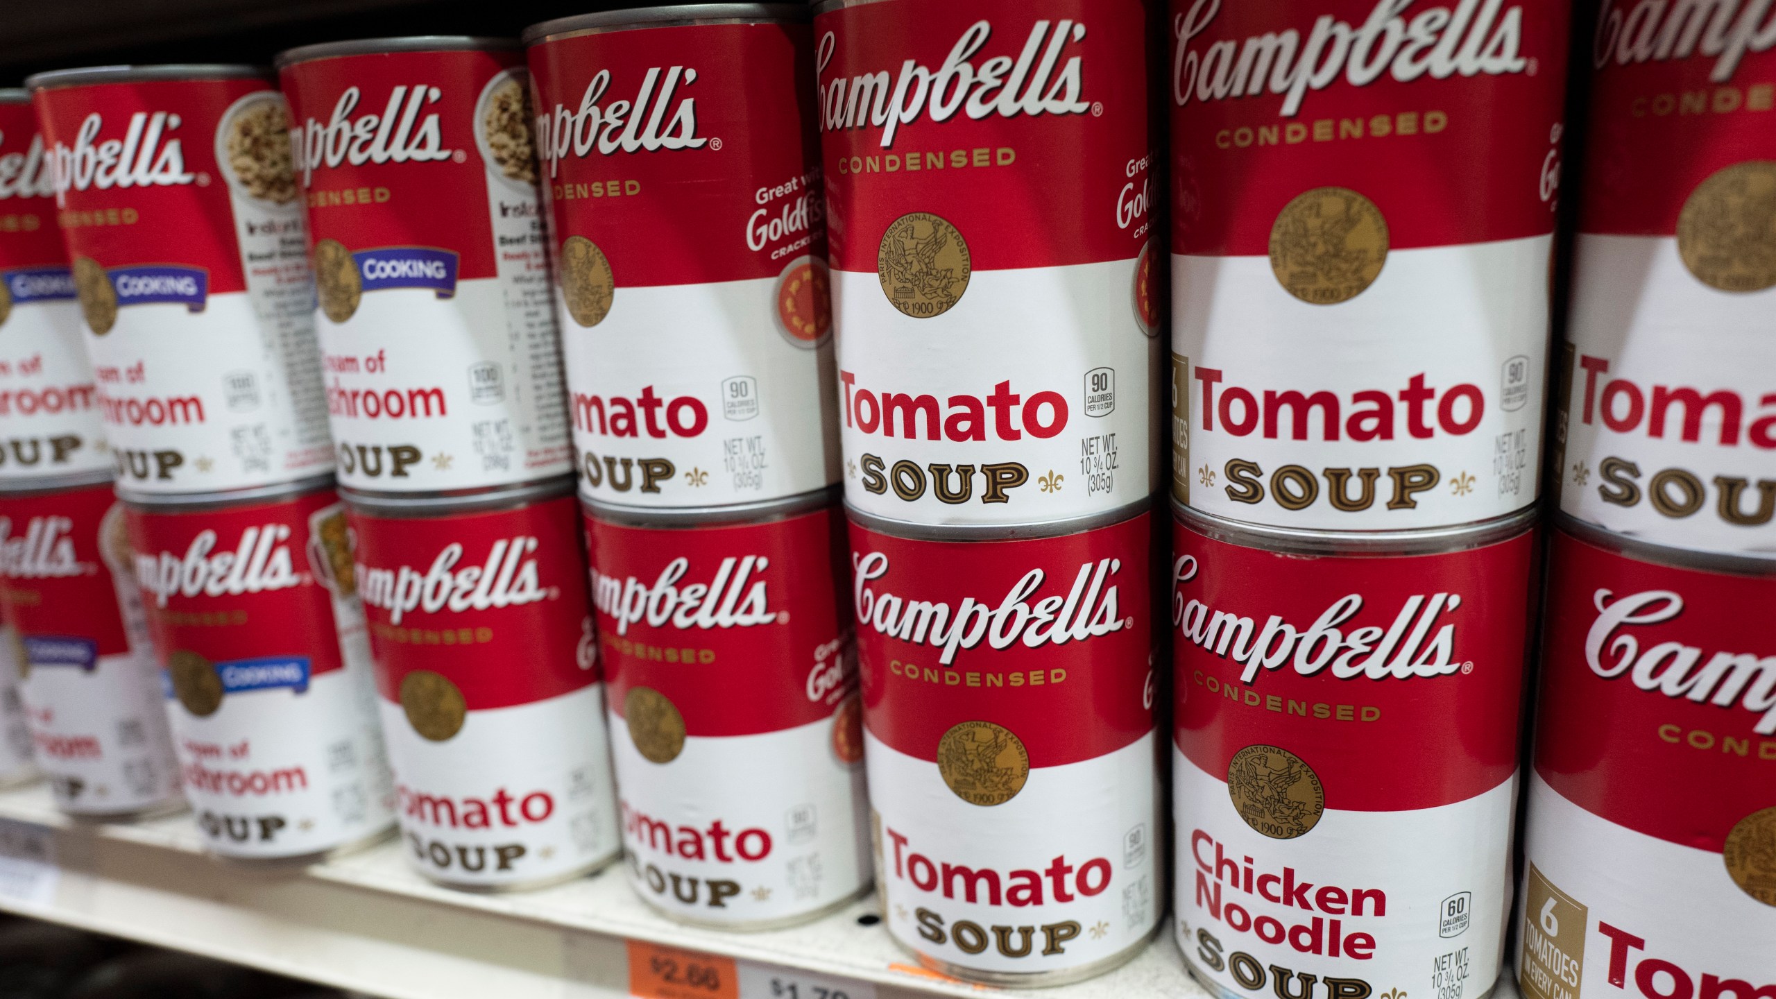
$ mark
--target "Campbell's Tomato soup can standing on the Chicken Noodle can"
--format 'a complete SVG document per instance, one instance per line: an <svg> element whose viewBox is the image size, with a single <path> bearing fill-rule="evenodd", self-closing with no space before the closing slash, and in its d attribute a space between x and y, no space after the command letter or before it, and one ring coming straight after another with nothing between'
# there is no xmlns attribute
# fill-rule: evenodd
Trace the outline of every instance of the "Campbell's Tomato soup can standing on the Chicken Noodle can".
<svg viewBox="0 0 1776 999"><path fill-rule="evenodd" d="M1536 500L1565 0L1172 0L1172 498L1311 530Z"/></svg>

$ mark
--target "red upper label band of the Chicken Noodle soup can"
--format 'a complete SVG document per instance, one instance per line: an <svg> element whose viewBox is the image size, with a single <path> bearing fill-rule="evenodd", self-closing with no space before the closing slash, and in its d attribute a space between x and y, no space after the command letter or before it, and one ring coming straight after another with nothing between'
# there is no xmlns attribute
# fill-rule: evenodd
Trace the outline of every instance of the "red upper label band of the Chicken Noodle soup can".
<svg viewBox="0 0 1776 999"><path fill-rule="evenodd" d="M1174 524L1174 738L1225 780L1275 745L1328 809L1392 812L1517 771L1533 533L1398 558L1304 558Z"/></svg>

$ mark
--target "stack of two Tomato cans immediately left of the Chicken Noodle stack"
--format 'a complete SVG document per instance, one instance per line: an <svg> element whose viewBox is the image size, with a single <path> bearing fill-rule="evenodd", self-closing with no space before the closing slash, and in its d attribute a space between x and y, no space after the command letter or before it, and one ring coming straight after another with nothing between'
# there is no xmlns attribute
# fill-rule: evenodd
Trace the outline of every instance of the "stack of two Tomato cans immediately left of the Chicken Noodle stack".
<svg viewBox="0 0 1776 999"><path fill-rule="evenodd" d="M883 919L947 974L1085 978L1165 910L1160 12L813 30Z"/></svg>

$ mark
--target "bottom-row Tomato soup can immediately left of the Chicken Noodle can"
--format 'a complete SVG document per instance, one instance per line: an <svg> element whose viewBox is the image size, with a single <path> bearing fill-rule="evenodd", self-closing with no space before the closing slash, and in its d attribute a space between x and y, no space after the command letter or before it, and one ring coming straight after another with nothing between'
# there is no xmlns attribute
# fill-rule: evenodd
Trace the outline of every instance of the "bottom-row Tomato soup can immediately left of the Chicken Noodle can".
<svg viewBox="0 0 1776 999"><path fill-rule="evenodd" d="M883 919L920 963L1058 985L1165 912L1149 503L1002 540L851 510Z"/></svg>

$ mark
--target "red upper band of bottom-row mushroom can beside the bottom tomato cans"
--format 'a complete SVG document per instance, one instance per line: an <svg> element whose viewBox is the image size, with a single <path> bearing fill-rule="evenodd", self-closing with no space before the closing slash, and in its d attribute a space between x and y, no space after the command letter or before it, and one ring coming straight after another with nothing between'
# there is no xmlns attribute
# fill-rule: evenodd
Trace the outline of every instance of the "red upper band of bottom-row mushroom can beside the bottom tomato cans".
<svg viewBox="0 0 1776 999"><path fill-rule="evenodd" d="M155 654L343 663L332 594L353 592L345 508L330 489L275 503L167 514L130 508L135 583Z"/></svg>

